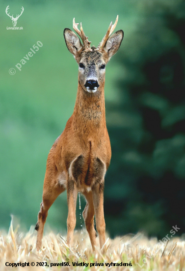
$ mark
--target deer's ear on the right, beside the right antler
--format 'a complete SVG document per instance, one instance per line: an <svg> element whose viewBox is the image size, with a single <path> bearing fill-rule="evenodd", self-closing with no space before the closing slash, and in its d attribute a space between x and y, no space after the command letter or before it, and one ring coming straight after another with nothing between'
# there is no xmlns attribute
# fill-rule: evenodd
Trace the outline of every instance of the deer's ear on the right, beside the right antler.
<svg viewBox="0 0 185 271"><path fill-rule="evenodd" d="M104 51L108 54L108 58L111 58L117 52L122 40L123 30L118 30L108 38L106 45L104 46Z"/></svg>

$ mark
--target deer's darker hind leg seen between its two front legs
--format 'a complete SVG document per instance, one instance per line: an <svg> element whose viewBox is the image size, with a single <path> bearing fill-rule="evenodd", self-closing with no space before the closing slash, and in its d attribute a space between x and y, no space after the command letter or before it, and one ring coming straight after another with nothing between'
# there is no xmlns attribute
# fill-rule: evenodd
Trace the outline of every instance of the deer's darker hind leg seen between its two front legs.
<svg viewBox="0 0 185 271"><path fill-rule="evenodd" d="M94 204L93 204L93 197L92 197L92 192L90 191L89 193L84 192L83 195L85 196L87 203L83 211L83 219L85 222L85 227L87 229L87 232L90 237L91 245L93 251L95 250L96 246L96 237L97 233L94 229Z"/></svg>

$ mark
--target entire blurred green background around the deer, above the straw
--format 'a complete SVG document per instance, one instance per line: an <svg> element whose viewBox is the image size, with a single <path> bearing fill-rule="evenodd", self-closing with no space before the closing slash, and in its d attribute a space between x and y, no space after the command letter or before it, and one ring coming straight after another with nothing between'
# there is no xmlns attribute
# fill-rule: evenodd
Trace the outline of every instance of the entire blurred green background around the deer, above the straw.
<svg viewBox="0 0 185 271"><path fill-rule="evenodd" d="M12 27L10 15L24 12ZM119 14L124 39L106 68L106 122L112 159L105 179L106 231L185 232L185 1L0 1L0 228L10 214L29 229L37 222L46 160L73 113L78 65L64 28L82 26L92 45ZM22 70L20 63L37 41ZM8 70L16 69L15 75ZM84 200L82 200L84 206ZM77 205L78 206L78 205ZM66 192L47 225L66 231ZM77 208L77 228L80 225Z"/></svg>

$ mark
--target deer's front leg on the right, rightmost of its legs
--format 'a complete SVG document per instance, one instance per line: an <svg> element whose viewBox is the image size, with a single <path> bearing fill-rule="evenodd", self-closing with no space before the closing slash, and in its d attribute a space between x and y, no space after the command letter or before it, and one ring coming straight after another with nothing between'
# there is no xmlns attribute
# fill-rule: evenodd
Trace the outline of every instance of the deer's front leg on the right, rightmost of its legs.
<svg viewBox="0 0 185 271"><path fill-rule="evenodd" d="M95 209L96 229L98 231L100 248L106 242L106 223L104 219L104 183L96 184L92 190Z"/></svg>

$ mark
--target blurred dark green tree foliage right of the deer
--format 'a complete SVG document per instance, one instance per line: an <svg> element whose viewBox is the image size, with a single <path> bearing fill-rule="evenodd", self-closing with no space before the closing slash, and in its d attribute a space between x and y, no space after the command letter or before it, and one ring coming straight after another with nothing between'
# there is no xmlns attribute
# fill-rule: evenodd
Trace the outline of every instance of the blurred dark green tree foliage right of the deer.
<svg viewBox="0 0 185 271"><path fill-rule="evenodd" d="M106 228L185 232L185 1L143 1L125 34L120 104L108 104L112 159L106 176ZM120 57L120 56L119 56ZM116 125L117 124L117 125Z"/></svg>

